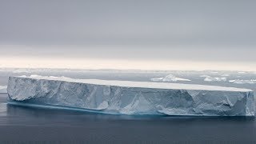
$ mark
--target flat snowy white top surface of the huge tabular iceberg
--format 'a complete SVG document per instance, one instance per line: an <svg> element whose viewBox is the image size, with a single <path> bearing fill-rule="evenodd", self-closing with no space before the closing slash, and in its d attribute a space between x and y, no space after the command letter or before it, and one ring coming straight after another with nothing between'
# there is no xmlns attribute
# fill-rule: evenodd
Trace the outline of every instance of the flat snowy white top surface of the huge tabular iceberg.
<svg viewBox="0 0 256 144"><path fill-rule="evenodd" d="M133 81L115 81L115 80L100 80L100 79L74 79L66 77L47 77L40 75L20 76L18 78L34 78L34 79L46 79L54 81L65 82L78 82L94 85L107 85L107 86L122 86L122 87L139 87L139 88L156 88L156 89L173 89L173 90L220 90L220 91L252 91L249 89L241 89L235 87L223 87L223 86L206 86L206 85L194 85L194 84L181 84L181 83L166 83L166 82L133 82Z"/></svg>

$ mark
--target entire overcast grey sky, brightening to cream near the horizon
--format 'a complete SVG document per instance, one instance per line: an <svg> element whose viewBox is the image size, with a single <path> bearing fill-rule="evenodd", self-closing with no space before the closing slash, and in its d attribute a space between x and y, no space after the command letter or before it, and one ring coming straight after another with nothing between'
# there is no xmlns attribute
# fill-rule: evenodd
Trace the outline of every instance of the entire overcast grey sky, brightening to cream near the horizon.
<svg viewBox="0 0 256 144"><path fill-rule="evenodd" d="M1 0L0 67L256 71L254 0Z"/></svg>

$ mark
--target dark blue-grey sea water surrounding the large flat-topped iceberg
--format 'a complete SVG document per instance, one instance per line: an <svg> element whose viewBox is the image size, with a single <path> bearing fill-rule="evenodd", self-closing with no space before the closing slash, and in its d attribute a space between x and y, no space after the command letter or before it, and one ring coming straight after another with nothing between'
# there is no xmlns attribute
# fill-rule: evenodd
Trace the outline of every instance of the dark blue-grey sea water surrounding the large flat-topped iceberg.
<svg viewBox="0 0 256 144"><path fill-rule="evenodd" d="M175 72L191 82L215 86L234 86L254 90L255 84L204 82L200 75L219 77L216 73ZM170 72L0 72L0 85L9 75L54 75L70 78L99 78L150 81ZM222 72L224 74L224 72ZM219 74L220 75L220 74ZM228 78L254 79L256 74L232 73ZM94 114L72 110L53 110L13 106L0 94L0 144L5 143L256 143L253 117L173 117Z"/></svg>

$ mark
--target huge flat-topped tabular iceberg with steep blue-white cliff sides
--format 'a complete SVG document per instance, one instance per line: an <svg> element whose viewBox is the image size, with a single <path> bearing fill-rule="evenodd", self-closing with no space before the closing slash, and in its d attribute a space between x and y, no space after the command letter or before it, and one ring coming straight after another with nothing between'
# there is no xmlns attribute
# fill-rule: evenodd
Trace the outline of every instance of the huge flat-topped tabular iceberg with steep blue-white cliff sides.
<svg viewBox="0 0 256 144"><path fill-rule="evenodd" d="M10 104L106 114L254 116L253 91L233 87L23 76L7 91Z"/></svg>

